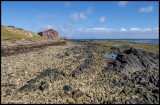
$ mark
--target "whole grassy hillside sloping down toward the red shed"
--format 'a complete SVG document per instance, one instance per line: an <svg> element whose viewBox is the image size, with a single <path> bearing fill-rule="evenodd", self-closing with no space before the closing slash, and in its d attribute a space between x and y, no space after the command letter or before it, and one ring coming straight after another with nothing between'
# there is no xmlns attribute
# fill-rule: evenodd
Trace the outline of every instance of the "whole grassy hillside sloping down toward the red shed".
<svg viewBox="0 0 160 105"><path fill-rule="evenodd" d="M46 39L34 32L23 30L21 28L15 28L13 26L2 26L1 25L1 40L36 40L36 39Z"/></svg>

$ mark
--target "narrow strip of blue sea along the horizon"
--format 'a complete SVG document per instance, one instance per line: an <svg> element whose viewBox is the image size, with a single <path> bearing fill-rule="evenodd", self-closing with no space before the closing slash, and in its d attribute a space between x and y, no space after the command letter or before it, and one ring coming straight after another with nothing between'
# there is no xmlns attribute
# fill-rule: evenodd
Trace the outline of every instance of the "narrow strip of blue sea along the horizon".
<svg viewBox="0 0 160 105"><path fill-rule="evenodd" d="M125 41L159 45L159 39L67 39L67 41Z"/></svg>

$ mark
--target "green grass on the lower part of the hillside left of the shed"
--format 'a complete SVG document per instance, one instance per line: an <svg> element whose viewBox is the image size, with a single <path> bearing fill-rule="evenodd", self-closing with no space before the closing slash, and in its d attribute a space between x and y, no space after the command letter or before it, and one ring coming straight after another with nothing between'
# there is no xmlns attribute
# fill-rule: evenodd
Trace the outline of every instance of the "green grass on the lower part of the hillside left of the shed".
<svg viewBox="0 0 160 105"><path fill-rule="evenodd" d="M3 27L1 27L1 40L19 40L19 39L26 39L26 40L40 40L40 39L46 39L38 35L34 35L33 37L24 35L24 34L18 34L14 32L10 32Z"/></svg>

